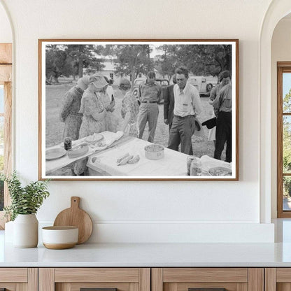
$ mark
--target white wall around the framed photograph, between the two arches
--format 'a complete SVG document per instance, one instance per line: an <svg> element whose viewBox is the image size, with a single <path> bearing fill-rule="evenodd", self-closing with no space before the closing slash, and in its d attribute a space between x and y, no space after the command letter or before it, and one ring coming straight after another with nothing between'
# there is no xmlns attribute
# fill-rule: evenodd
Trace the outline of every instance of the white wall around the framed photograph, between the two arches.
<svg viewBox="0 0 291 291"><path fill-rule="evenodd" d="M91 241L272 241L272 225L259 224L258 78L271 0L0 1L15 27L15 169L28 180L38 177L38 38L240 41L238 182L52 181L41 222L52 223L76 195L96 223Z"/></svg>

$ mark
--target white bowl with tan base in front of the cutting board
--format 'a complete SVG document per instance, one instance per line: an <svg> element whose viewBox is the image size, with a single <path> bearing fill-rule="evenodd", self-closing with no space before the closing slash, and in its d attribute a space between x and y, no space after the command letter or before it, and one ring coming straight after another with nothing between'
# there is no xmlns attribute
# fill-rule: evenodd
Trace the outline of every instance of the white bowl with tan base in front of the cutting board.
<svg viewBox="0 0 291 291"><path fill-rule="evenodd" d="M78 243L78 227L43 227L43 246L54 250L73 248Z"/></svg>

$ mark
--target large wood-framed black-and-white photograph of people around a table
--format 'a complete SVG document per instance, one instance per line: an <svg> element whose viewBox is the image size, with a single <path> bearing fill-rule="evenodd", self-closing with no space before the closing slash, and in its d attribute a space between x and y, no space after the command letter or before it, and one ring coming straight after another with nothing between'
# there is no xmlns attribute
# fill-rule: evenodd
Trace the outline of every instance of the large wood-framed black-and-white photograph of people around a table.
<svg viewBox="0 0 291 291"><path fill-rule="evenodd" d="M38 40L38 178L238 180L237 39Z"/></svg>

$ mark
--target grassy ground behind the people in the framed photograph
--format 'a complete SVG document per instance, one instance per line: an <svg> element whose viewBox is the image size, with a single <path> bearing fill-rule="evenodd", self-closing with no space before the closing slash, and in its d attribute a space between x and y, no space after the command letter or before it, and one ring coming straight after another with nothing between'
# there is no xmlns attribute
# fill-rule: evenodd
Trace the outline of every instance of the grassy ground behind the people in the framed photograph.
<svg viewBox="0 0 291 291"><path fill-rule="evenodd" d="M59 111L62 106L62 99L64 94L73 86L73 83L65 83L62 85L47 85L45 87L46 94L46 115L45 115L45 146L55 146L62 142L62 133L64 130L64 123L59 121ZM115 111L114 114L120 118L121 125L121 102L122 94L119 90L115 91ZM208 97L201 97L202 106L204 111L199 115L199 120L204 122L211 118L212 106L208 104ZM197 136L192 137L192 146L194 155L201 157L202 155L209 155L213 157L214 145L213 141L208 141L208 129L204 127L205 136L200 138ZM148 139L148 126L143 134L143 139ZM157 129L155 132L155 143L162 146L167 146L169 140L169 126L164 124L164 106L159 104L159 118L157 122ZM222 154L222 159L225 157Z"/></svg>

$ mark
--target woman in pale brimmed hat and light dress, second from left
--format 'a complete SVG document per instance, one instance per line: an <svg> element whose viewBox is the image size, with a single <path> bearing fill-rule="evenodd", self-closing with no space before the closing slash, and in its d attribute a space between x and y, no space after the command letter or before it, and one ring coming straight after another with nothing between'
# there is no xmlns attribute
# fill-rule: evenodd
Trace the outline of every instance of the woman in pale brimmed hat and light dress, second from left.
<svg viewBox="0 0 291 291"><path fill-rule="evenodd" d="M95 93L100 92L107 85L103 76L90 76L89 86L83 94L79 111L83 113L79 139L106 130L106 109L100 97Z"/></svg>

